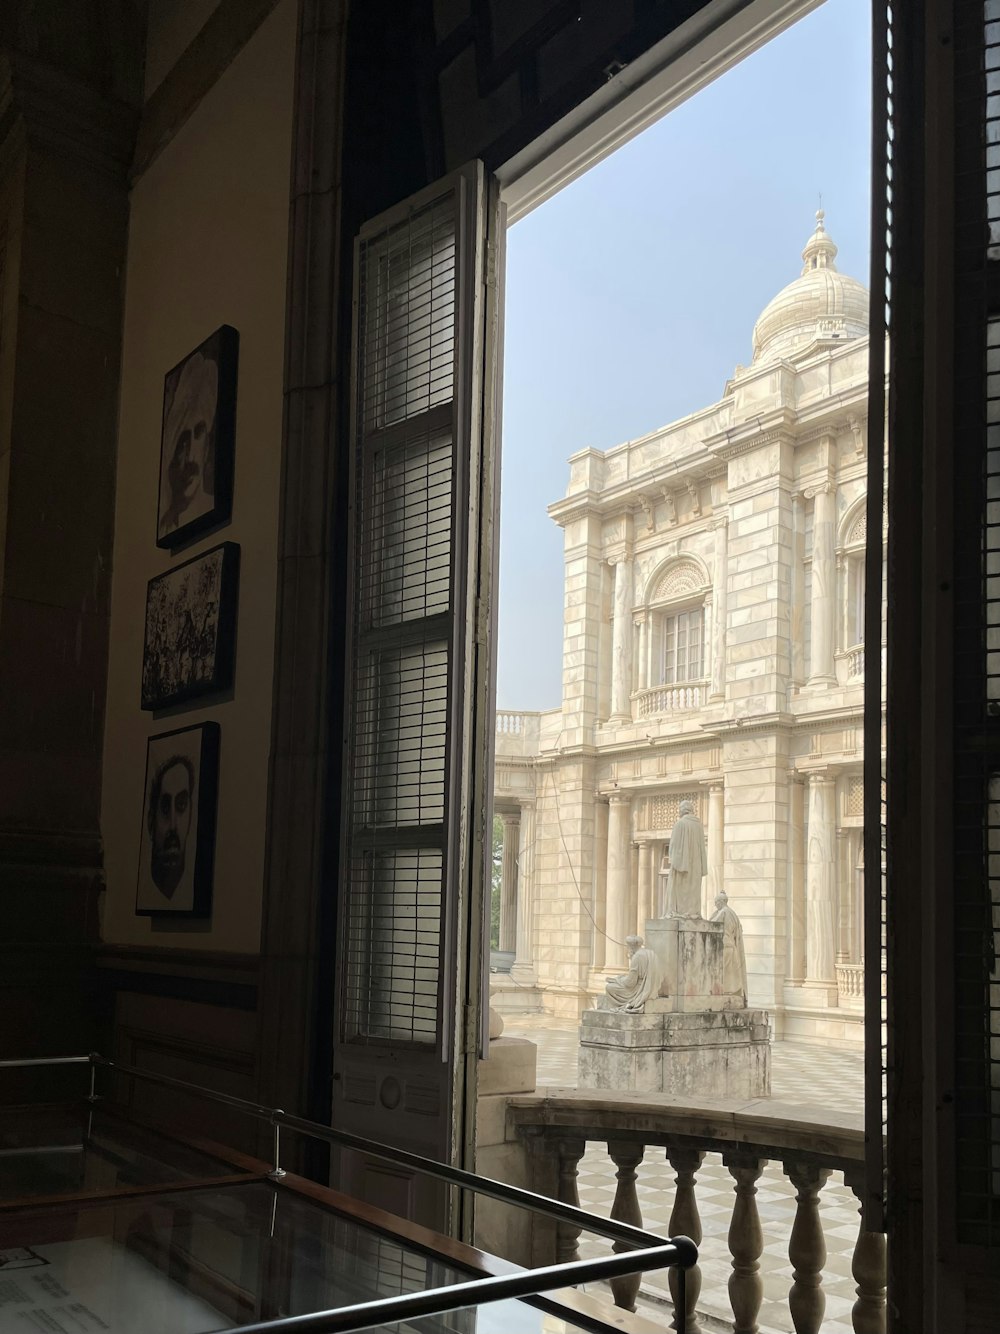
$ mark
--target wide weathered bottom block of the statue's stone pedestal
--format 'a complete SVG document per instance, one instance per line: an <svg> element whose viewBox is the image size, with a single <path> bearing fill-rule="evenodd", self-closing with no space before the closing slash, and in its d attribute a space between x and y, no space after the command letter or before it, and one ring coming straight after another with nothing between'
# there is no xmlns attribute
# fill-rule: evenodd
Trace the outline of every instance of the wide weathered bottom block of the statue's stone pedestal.
<svg viewBox="0 0 1000 1334"><path fill-rule="evenodd" d="M647 1000L643 1014L587 1010L580 1022L577 1082L580 1089L627 1089L675 1098L767 1098L768 1013L677 1013L669 1000Z"/></svg>

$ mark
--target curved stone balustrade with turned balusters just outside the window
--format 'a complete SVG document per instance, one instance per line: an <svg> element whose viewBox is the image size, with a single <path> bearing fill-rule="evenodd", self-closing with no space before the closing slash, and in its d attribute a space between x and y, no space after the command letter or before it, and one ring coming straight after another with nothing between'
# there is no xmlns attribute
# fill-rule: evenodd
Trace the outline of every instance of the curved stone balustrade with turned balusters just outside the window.
<svg viewBox="0 0 1000 1334"><path fill-rule="evenodd" d="M576 1093L515 1095L507 1103L508 1134L519 1137L533 1162L536 1189L579 1203L577 1165L588 1142L607 1145L615 1169L616 1190L611 1217L644 1226L637 1181L647 1154L664 1151L675 1173L676 1191L669 1234L684 1234L699 1245L703 1227L697 1205L697 1173L707 1154L719 1154L733 1185L733 1210L728 1230L732 1259L725 1294L703 1291L703 1274L689 1277L683 1319L676 1310L672 1327L701 1334L699 1311L728 1303L735 1334L757 1334L764 1297L760 1258L767 1238L757 1210L757 1181L769 1162L780 1162L795 1198L795 1219L788 1238L791 1283L788 1306L797 1334L820 1334L825 1297L823 1270L827 1246L819 1197L832 1173L843 1173L845 1186L860 1202L864 1181L864 1130L860 1118L839 1117L817 1123L813 1113L763 1098L752 1102L679 1098L644 1094ZM859 1203L860 1214L860 1203ZM579 1258L579 1230L559 1225L553 1254L535 1257L571 1261ZM616 1247L617 1249L617 1247ZM852 1310L855 1334L885 1330L885 1238L868 1231L859 1221L852 1274L857 1299ZM615 1303L635 1310L640 1275L616 1279ZM716 1325L712 1325L715 1329Z"/></svg>

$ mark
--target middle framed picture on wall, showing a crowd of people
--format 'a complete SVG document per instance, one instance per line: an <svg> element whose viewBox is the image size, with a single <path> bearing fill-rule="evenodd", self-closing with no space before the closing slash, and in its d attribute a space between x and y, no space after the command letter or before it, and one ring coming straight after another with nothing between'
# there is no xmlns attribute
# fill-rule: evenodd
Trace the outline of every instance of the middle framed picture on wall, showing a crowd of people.
<svg viewBox="0 0 1000 1334"><path fill-rule="evenodd" d="M232 686L239 578L240 547L223 542L149 580L143 708L165 708Z"/></svg>

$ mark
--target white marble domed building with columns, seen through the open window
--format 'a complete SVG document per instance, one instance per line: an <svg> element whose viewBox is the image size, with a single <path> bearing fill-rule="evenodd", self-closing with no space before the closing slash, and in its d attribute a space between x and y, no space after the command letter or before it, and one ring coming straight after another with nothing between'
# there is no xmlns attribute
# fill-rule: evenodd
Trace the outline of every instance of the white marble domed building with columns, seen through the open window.
<svg viewBox="0 0 1000 1334"><path fill-rule="evenodd" d="M861 1041L868 292L836 252L819 213L719 403L569 460L563 703L497 715L503 1010L623 971L691 798L749 1003Z"/></svg>

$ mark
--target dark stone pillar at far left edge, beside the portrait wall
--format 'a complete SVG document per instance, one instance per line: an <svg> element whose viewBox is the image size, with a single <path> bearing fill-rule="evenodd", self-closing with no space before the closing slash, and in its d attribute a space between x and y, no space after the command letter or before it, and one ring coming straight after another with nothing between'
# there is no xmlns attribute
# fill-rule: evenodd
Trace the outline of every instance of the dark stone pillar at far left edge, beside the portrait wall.
<svg viewBox="0 0 1000 1334"><path fill-rule="evenodd" d="M99 8L12 4L0 23L0 1051L19 1055L87 1050L97 1031L121 273L141 72L135 11L124 5L112 32ZM1 1097L24 1089L5 1079Z"/></svg>

